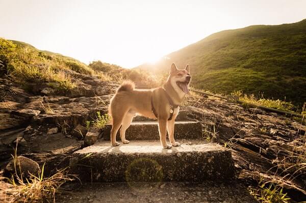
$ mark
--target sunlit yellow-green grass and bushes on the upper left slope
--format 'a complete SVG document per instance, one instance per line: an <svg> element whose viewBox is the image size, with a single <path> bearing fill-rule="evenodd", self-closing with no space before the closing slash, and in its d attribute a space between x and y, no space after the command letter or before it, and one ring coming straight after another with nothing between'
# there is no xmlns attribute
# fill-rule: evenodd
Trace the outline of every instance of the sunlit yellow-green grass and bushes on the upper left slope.
<svg viewBox="0 0 306 203"><path fill-rule="evenodd" d="M2 38L0 61L3 64L0 74L7 74L22 86L30 83L47 84L63 93L76 87L73 78L65 70L83 74L94 73L91 68L70 57L40 51L26 43Z"/></svg>

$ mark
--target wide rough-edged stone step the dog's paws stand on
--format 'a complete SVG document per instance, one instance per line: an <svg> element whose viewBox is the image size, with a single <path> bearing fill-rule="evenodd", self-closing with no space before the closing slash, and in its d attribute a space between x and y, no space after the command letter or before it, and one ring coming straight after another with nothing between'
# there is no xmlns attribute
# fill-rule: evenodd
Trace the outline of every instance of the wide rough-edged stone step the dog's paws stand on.
<svg viewBox="0 0 306 203"><path fill-rule="evenodd" d="M225 181L235 175L231 151L215 143L165 150L157 140L118 147L103 141L74 152L70 166L84 182Z"/></svg>

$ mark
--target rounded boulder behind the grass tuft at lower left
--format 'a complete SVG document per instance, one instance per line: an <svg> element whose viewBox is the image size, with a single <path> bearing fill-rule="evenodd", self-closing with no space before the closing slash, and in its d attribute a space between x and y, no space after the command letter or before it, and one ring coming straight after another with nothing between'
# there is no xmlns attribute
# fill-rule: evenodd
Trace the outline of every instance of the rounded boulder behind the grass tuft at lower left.
<svg viewBox="0 0 306 203"><path fill-rule="evenodd" d="M15 171L17 171L17 176L19 178L22 177L23 179L29 179L31 177L30 173L38 177L39 173L41 172L38 163L23 156L18 156L15 159L15 163L14 160L8 163L4 170L4 177L11 178L12 176L15 176Z"/></svg>

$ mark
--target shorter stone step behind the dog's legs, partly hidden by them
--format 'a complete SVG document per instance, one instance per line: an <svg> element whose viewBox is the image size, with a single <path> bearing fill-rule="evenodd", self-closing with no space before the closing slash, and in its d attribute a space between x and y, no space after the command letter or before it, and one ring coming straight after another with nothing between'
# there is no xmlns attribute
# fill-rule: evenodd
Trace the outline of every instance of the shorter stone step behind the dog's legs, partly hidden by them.
<svg viewBox="0 0 306 203"><path fill-rule="evenodd" d="M104 140L110 140L112 125L104 130ZM174 127L174 137L177 139L202 138L202 125L200 122L177 121ZM116 136L120 140L119 131ZM132 122L125 132L127 140L160 139L157 122Z"/></svg>

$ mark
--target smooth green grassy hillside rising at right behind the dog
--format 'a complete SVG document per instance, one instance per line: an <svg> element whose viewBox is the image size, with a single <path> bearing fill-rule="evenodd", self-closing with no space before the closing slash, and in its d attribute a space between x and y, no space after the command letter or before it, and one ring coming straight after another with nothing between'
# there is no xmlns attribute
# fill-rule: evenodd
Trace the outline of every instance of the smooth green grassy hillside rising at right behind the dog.
<svg viewBox="0 0 306 203"><path fill-rule="evenodd" d="M190 64L192 85L212 92L261 94L302 106L306 98L306 19L215 33L137 69L164 74Z"/></svg>

